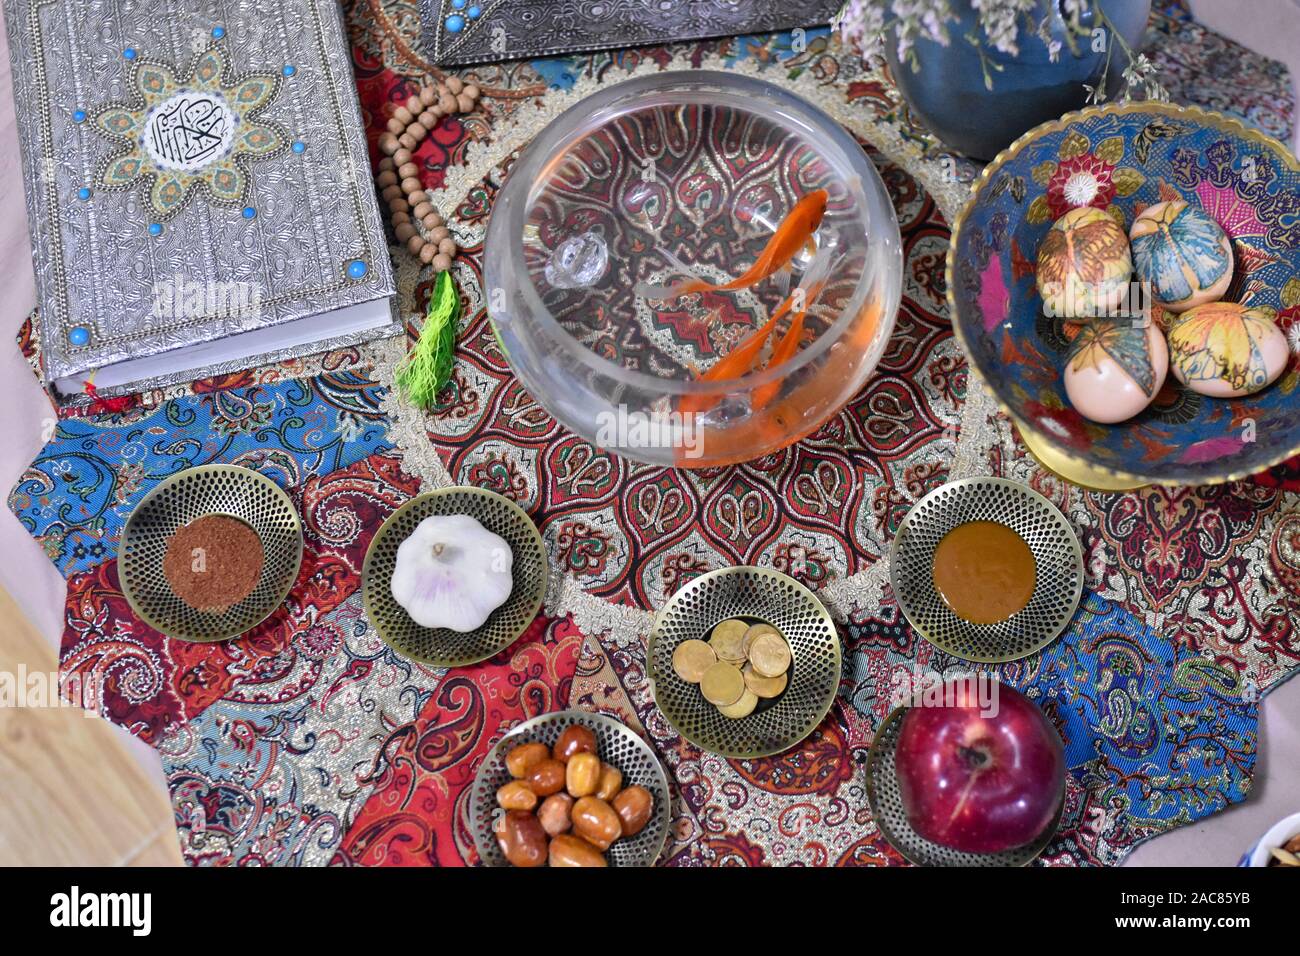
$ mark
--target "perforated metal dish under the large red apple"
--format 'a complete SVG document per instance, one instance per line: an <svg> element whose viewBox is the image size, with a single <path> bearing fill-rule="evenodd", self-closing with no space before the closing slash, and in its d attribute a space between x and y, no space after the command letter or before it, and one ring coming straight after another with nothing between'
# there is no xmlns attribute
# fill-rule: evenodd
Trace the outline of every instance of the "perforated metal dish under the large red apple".
<svg viewBox="0 0 1300 956"><path fill-rule="evenodd" d="M1052 826L1037 840L1027 847L1009 849L1004 853L966 853L939 843L927 840L907 822L898 792L898 775L894 770L894 752L898 748L898 732L907 708L894 708L876 731L867 753L867 805L871 817L880 827L880 834L889 845L918 866L1024 866L1034 862L1039 853L1046 849L1061 826L1065 800L1057 809Z"/></svg>

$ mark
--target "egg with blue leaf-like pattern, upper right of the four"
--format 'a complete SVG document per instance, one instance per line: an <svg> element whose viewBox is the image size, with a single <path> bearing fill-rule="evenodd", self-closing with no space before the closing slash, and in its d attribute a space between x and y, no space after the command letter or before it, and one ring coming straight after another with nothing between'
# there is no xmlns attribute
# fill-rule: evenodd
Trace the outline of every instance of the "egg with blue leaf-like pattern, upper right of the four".
<svg viewBox="0 0 1300 956"><path fill-rule="evenodd" d="M1174 312L1217 302L1232 281L1232 243L1208 212L1182 199L1143 209L1128 230L1138 278Z"/></svg>

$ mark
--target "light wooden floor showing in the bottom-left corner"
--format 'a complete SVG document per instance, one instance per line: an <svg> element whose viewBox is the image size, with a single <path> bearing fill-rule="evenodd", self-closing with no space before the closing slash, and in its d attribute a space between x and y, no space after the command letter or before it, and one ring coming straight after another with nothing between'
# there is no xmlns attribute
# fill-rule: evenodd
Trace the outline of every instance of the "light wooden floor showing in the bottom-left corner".
<svg viewBox="0 0 1300 956"><path fill-rule="evenodd" d="M0 589L0 670L55 649ZM172 808L122 731L73 708L0 706L0 866L179 866Z"/></svg>

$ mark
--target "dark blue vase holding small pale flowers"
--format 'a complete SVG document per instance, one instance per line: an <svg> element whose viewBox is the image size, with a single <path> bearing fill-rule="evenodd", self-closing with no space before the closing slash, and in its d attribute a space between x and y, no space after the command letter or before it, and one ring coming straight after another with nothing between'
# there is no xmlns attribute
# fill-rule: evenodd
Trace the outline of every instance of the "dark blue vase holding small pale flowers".
<svg viewBox="0 0 1300 956"><path fill-rule="evenodd" d="M1150 16L1150 0L1093 1L1100 1L1124 42L1138 49ZM971 159L991 160L1022 133L1080 109L1088 95L1084 83L1097 85L1106 66L1106 55L1092 52L1087 36L1076 39L1079 55L1071 52L1065 42L1066 27L1060 7L1060 0L1039 0L1039 9L1034 13L1035 22L1044 16L1050 17L1052 35L1062 43L1056 62L1048 56L1046 44L1035 34L1027 34L1023 23L1017 56L1001 53L987 43L983 46L989 62L1002 68L991 70L992 90L984 86L979 52L965 39L972 33L983 39L970 0L953 4L957 21L948 25L952 39L946 47L933 40L916 40L916 70L898 61L897 42L887 39L889 69L913 114L948 147ZM1083 23L1093 26L1095 16L1089 12ZM1108 42L1113 40L1108 38ZM1110 96L1119 90L1124 62L1123 52L1117 46L1110 55L1106 83Z"/></svg>

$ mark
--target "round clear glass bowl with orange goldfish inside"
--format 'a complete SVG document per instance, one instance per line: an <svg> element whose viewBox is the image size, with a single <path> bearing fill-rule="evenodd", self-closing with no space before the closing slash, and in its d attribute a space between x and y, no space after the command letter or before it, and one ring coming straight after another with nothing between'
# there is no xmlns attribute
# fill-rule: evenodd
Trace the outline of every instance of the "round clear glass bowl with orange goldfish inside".
<svg viewBox="0 0 1300 956"><path fill-rule="evenodd" d="M776 451L838 411L902 282L893 206L853 137L777 86L703 70L551 122L484 259L524 388L598 447L686 468Z"/></svg>

